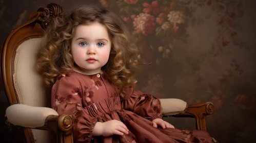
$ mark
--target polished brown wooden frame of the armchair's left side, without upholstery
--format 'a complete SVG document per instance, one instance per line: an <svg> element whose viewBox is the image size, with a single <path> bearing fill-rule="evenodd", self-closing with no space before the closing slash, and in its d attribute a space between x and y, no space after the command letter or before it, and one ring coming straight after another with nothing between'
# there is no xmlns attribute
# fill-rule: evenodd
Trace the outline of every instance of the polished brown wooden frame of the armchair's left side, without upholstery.
<svg viewBox="0 0 256 143"><path fill-rule="evenodd" d="M62 7L57 4L49 4L40 8L37 12L30 14L28 21L14 30L6 37L1 48L1 81L3 83L9 104L21 103L13 84L14 59L17 47L24 41L31 38L40 38L47 28L50 20L56 16L63 15ZM52 130L57 135L57 142L73 142L72 118L69 115L49 116L45 125L35 129ZM25 141L34 143L31 129L22 128Z"/></svg>

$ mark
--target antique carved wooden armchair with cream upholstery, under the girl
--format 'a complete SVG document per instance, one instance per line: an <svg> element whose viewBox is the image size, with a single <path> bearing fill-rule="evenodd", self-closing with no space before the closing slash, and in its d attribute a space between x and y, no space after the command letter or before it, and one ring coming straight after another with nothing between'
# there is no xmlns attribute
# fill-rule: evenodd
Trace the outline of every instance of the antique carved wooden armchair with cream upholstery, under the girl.
<svg viewBox="0 0 256 143"><path fill-rule="evenodd" d="M50 108L50 91L34 65L43 31L53 17L62 14L56 4L38 9L2 45L1 80L11 105L6 110L7 123L21 127L26 142L73 142L72 118ZM193 117L198 130L206 130L206 115L214 112L210 102L187 106L179 99L161 99L161 104L164 116Z"/></svg>

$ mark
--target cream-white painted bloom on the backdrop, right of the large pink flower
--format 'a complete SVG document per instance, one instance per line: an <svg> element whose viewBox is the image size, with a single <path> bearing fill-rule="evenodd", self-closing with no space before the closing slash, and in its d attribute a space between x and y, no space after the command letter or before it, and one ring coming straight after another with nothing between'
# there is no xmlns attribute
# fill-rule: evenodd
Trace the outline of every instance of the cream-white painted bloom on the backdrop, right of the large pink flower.
<svg viewBox="0 0 256 143"><path fill-rule="evenodd" d="M184 23L185 22L185 15L182 11L170 11L168 16L168 20L171 23Z"/></svg>

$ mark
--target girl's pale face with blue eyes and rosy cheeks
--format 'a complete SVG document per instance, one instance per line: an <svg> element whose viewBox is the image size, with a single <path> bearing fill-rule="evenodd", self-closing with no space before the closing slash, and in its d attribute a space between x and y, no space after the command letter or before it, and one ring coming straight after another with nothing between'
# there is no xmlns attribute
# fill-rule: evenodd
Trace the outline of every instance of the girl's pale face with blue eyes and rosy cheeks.
<svg viewBox="0 0 256 143"><path fill-rule="evenodd" d="M79 25L71 41L71 52L78 67L74 70L86 75L101 72L109 58L111 42L105 26L99 22Z"/></svg>

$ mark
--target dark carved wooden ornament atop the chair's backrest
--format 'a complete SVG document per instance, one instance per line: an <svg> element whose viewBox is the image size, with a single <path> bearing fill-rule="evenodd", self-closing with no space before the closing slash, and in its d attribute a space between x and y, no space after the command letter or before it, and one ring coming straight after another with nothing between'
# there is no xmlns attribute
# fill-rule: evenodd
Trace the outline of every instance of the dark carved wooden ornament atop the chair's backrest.
<svg viewBox="0 0 256 143"><path fill-rule="evenodd" d="M43 7L37 10L41 12L37 18L37 22L41 24L42 29L46 30L48 23L55 17L61 17L63 15L62 7L57 4L49 4L47 7Z"/></svg>

